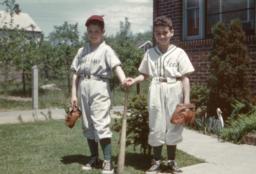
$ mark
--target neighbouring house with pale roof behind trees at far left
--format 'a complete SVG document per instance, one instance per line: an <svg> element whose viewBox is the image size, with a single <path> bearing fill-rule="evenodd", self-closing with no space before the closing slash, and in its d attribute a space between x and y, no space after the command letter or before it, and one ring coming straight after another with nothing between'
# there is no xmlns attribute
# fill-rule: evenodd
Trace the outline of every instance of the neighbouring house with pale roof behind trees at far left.
<svg viewBox="0 0 256 174"><path fill-rule="evenodd" d="M19 11L19 5L15 4L15 8L17 9L17 11ZM37 24L35 23L35 21L33 21L33 19L27 14L27 13L23 13L23 12L15 12L13 14L12 17L12 26L10 26L10 14L6 11L0 11L0 32L3 28L3 26L7 26L8 28L14 28L17 25L19 25L19 28L27 28L26 32L28 33L28 35L30 37L33 37L33 35L35 35L35 37L39 38L42 37L42 30L39 28L39 26L37 26ZM31 28L28 28L28 26L30 25L35 26L34 31ZM11 71L11 75L8 77L8 79L19 79L21 80L22 78L22 72L16 72L15 71L15 67L10 67L10 71ZM1 70L0 70L1 73ZM1 75L0 76L0 81L4 80L4 76Z"/></svg>

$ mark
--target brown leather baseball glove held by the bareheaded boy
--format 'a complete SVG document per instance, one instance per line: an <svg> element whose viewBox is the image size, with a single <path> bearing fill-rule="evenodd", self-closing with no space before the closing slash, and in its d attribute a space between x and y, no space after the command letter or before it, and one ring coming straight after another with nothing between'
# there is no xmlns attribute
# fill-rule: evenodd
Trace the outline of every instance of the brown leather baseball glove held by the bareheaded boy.
<svg viewBox="0 0 256 174"><path fill-rule="evenodd" d="M178 104L172 115L171 123L192 124L194 122L195 106L194 104Z"/></svg>

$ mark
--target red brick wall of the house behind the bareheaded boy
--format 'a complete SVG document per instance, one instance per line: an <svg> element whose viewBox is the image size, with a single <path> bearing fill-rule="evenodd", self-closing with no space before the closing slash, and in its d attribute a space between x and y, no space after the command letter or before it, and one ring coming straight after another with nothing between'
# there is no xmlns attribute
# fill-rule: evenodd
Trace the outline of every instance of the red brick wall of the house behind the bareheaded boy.
<svg viewBox="0 0 256 174"><path fill-rule="evenodd" d="M172 44L182 48L190 57L195 71L190 75L190 82L206 83L210 75L210 61L207 59L208 53L212 51L212 39L201 39L183 41L183 0L154 0L154 19L165 15L172 19L174 37ZM156 46L156 41L154 41ZM256 35L246 36L247 56L250 57L250 88L252 93L256 93Z"/></svg>

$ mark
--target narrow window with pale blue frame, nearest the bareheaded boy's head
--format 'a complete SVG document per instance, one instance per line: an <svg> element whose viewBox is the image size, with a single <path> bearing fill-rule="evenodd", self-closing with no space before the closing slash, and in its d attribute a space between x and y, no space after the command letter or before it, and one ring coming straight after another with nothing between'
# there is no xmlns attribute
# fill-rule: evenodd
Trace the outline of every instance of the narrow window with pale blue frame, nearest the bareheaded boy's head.
<svg viewBox="0 0 256 174"><path fill-rule="evenodd" d="M183 39L202 39L203 0L184 0L183 11Z"/></svg>

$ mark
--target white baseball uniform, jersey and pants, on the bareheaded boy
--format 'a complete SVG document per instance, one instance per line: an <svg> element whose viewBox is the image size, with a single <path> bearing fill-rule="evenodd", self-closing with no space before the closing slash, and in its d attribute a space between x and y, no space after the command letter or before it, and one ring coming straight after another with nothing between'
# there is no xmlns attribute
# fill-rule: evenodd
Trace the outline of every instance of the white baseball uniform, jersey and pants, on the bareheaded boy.
<svg viewBox="0 0 256 174"><path fill-rule="evenodd" d="M171 124L177 104L183 103L183 84L176 77L190 74L194 68L188 55L176 46L161 52L158 46L147 50L138 70L152 79L147 97L151 146L182 142L183 126ZM159 79L167 78L167 82Z"/></svg>

